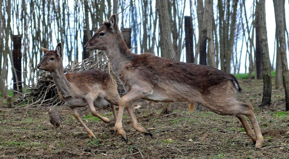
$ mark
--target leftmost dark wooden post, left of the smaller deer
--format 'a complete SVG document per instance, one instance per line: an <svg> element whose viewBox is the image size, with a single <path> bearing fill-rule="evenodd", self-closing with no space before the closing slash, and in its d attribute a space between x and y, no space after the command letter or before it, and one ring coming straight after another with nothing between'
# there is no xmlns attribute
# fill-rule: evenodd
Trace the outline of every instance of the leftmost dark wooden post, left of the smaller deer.
<svg viewBox="0 0 289 159"><path fill-rule="evenodd" d="M22 92L22 68L21 68L21 37L22 35L13 35L13 65L16 72L13 71L13 90ZM16 78L17 77L17 78ZM17 89L18 87L18 89ZM14 96L18 94L17 92L14 92Z"/></svg>

